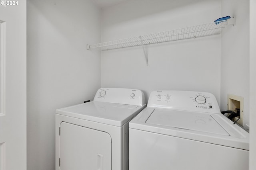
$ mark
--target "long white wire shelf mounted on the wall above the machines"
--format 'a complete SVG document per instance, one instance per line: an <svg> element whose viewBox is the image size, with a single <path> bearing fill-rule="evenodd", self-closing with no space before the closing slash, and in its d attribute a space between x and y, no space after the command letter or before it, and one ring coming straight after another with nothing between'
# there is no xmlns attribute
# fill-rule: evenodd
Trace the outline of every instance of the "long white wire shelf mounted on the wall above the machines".
<svg viewBox="0 0 256 170"><path fill-rule="evenodd" d="M148 35L141 35L138 37L120 39L116 41L109 41L104 43L98 43L95 45L88 45L87 49L100 49L101 51L119 49L126 47L134 47L140 45L149 45L155 43L162 43L168 41L178 41L182 39L191 39L197 37L205 37L210 35L218 35L222 28L227 25L234 25L234 18L227 20L216 21L212 23L196 25L192 27L186 27L181 29L174 29L170 31L164 31L159 33L153 33Z"/></svg>

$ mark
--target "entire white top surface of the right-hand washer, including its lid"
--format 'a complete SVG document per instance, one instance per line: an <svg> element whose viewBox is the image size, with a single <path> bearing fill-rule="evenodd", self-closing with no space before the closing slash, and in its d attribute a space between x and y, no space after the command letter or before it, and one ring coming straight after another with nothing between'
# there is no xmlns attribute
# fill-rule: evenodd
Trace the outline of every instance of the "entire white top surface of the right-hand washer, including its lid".
<svg viewBox="0 0 256 170"><path fill-rule="evenodd" d="M249 150L249 133L221 113L146 107L129 128Z"/></svg>

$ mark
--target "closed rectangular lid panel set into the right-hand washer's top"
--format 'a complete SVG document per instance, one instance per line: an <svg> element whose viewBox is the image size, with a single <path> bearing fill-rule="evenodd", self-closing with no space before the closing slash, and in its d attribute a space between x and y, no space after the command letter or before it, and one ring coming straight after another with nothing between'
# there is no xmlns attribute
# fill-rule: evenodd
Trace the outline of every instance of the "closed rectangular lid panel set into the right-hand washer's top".
<svg viewBox="0 0 256 170"><path fill-rule="evenodd" d="M146 123L229 136L225 129L206 113L156 109Z"/></svg>

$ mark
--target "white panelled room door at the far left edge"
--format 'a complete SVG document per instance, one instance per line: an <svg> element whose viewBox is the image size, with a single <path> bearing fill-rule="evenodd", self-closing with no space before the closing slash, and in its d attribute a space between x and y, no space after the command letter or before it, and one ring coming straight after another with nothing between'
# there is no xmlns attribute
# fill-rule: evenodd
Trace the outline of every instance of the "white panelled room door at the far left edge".
<svg viewBox="0 0 256 170"><path fill-rule="evenodd" d="M0 170L26 170L26 0L13 2L0 5Z"/></svg>

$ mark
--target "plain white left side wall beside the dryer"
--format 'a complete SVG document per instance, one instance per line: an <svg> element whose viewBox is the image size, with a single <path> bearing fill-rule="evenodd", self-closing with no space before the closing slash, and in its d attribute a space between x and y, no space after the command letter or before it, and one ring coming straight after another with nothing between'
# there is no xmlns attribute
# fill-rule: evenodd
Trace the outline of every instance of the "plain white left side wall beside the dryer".
<svg viewBox="0 0 256 170"><path fill-rule="evenodd" d="M100 88L100 10L90 1L28 0L28 170L55 169L55 109Z"/></svg>

